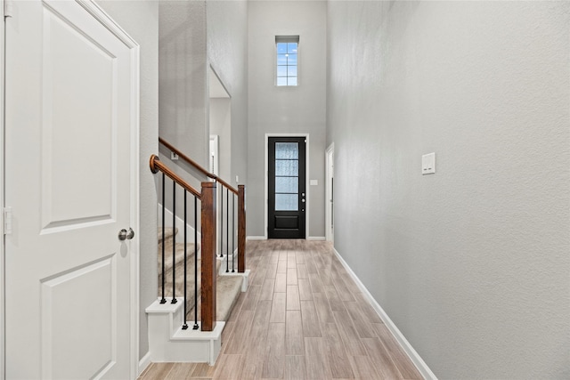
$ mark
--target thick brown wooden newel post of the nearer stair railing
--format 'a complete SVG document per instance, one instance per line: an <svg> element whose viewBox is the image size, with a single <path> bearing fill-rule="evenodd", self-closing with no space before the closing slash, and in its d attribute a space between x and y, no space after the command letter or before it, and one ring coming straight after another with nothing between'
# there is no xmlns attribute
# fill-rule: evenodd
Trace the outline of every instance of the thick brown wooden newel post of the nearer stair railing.
<svg viewBox="0 0 570 380"><path fill-rule="evenodd" d="M202 331L216 327L216 182L202 182Z"/></svg>

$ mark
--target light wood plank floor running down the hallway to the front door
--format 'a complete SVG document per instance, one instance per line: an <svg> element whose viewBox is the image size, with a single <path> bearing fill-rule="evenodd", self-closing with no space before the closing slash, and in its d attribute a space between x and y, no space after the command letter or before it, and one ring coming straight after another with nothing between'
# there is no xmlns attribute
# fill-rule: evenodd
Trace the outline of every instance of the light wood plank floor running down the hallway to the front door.
<svg viewBox="0 0 570 380"><path fill-rule="evenodd" d="M153 363L140 379L421 379L329 243L248 241L249 288L216 366Z"/></svg>

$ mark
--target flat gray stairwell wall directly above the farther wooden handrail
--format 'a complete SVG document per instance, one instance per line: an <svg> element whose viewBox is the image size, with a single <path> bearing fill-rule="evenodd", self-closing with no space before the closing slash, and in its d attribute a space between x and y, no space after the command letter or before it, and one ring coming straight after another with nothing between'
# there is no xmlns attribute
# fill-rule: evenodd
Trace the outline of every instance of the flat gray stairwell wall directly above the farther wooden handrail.
<svg viewBox="0 0 570 380"><path fill-rule="evenodd" d="M206 2L159 2L159 134L208 167Z"/></svg>

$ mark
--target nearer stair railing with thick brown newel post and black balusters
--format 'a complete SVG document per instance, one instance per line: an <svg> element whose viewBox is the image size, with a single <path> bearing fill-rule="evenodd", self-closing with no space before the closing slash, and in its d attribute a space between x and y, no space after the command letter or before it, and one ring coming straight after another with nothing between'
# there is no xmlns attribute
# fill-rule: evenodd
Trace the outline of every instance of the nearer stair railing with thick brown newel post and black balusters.
<svg viewBox="0 0 570 380"><path fill-rule="evenodd" d="M162 249L161 249L161 299L160 303L167 303L166 277L166 183L167 177L172 181L172 214L173 214L173 250L172 250L172 298L170 303L177 303L176 298L176 189L183 189L183 329L188 328L186 321L188 314L188 278L187 278L187 259L188 259L188 222L187 222L187 196L191 194L194 200L194 325L193 329L198 329L198 229L201 230L201 286L200 286L200 327L202 331L212 331L216 327L216 182L201 182L201 191L195 190L190 184L185 182L178 174L175 174L168 166L163 164L155 155L151 155L151 172L153 174L162 174ZM198 220L198 202L200 202L200 222Z"/></svg>

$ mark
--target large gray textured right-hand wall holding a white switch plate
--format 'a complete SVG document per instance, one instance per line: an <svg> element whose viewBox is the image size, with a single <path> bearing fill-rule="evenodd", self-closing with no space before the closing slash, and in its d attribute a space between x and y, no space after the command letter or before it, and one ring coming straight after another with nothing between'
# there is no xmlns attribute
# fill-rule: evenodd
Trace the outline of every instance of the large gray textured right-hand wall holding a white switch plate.
<svg viewBox="0 0 570 380"><path fill-rule="evenodd" d="M570 4L328 22L338 252L436 376L569 378Z"/></svg>

